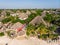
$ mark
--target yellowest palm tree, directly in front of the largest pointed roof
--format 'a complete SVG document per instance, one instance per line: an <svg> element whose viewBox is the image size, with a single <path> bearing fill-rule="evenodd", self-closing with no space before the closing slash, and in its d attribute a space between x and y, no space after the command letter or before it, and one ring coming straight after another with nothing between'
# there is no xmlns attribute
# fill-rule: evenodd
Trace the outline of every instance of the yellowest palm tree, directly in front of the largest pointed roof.
<svg viewBox="0 0 60 45"><path fill-rule="evenodd" d="M47 39L48 38L48 34L50 34L50 30L48 28L45 27L45 25L40 24L40 26L38 26L38 28L36 29L37 35L39 38L42 39Z"/></svg>

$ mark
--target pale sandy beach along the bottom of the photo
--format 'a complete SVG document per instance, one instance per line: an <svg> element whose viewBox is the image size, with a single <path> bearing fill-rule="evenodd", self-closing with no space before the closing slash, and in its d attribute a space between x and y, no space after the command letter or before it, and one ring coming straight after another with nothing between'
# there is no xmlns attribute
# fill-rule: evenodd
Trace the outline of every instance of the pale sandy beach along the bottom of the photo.
<svg viewBox="0 0 60 45"><path fill-rule="evenodd" d="M29 39L9 39L7 36L0 37L0 45L48 45L48 43L44 40L39 40L37 38L30 37ZM50 45L50 44L49 44ZM57 45L57 44L52 44Z"/></svg>

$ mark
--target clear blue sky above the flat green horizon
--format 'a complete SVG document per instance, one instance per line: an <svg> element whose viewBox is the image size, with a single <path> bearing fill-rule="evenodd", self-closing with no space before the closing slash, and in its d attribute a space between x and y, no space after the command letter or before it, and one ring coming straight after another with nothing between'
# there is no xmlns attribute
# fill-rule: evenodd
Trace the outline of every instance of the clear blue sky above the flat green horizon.
<svg viewBox="0 0 60 45"><path fill-rule="evenodd" d="M0 0L0 9L60 8L60 0Z"/></svg>

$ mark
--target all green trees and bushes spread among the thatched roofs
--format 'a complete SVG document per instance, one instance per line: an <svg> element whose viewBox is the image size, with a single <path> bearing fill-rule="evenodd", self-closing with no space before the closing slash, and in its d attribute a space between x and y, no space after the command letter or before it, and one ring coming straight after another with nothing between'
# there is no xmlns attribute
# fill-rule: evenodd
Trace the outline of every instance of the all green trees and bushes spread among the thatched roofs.
<svg viewBox="0 0 60 45"><path fill-rule="evenodd" d="M34 10L34 9L33 9ZM49 9L50 10L50 9ZM48 11L49 11L48 10ZM2 10L1 10L2 11ZM0 11L0 13L1 13ZM16 13L17 10L11 10L14 13ZM22 9L19 10L23 13L26 13L26 9ZM31 10L29 10L31 12ZM27 36L37 36L38 38L41 39L53 39L53 38L57 38L58 34L55 33L57 27L60 26L60 15L59 14L55 14L55 13L47 13L45 17L43 17L44 21L46 23L49 23L50 26L46 27L43 23L40 23L39 25L33 25L33 24L29 24L29 22L31 20L33 20L36 16L40 15L44 10L40 10L40 9L36 9L34 10L36 13L32 13L28 16L28 18L26 20L21 20L19 19L18 16L10 16L9 12L6 12L6 17L2 20L2 23L16 23L16 22L20 22L22 24L26 23L26 34ZM54 10L56 11L56 10ZM8 36L11 36L10 31L7 32ZM4 33L0 33L0 36L3 36Z"/></svg>

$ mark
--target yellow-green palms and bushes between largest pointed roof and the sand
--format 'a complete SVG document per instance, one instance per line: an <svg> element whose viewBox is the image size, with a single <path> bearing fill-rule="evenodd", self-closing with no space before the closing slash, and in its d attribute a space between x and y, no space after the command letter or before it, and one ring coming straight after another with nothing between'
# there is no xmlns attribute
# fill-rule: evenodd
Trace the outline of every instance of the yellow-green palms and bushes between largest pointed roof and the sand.
<svg viewBox="0 0 60 45"><path fill-rule="evenodd" d="M32 24L29 24L26 28L26 34L28 36L35 35L38 38L42 39L53 39L58 37L58 34L54 34L53 32L56 30L55 26L52 26L49 28L45 27L42 23L38 26L33 26Z"/></svg>

